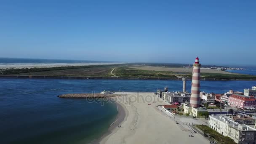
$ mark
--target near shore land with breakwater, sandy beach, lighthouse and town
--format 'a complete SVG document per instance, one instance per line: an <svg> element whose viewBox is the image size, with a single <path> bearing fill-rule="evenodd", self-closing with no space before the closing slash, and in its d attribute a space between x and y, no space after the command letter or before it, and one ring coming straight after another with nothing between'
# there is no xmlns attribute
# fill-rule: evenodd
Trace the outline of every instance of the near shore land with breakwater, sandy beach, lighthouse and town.
<svg viewBox="0 0 256 144"><path fill-rule="evenodd" d="M200 67L197 57L191 91L186 88L187 77L182 77L182 91L169 91L165 86L155 93L102 91L59 97L114 99L122 116L109 127L110 133L102 136L101 144L255 144L256 86L244 91L230 88L226 93L200 91ZM182 139L184 136L191 139Z"/></svg>

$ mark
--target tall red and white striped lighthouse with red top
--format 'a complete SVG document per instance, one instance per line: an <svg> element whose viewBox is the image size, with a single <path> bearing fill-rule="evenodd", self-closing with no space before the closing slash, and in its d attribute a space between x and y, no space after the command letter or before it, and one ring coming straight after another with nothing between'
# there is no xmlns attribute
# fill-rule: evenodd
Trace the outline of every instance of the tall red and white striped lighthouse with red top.
<svg viewBox="0 0 256 144"><path fill-rule="evenodd" d="M190 106L200 107L200 67L198 57L195 59L195 64L193 64L193 75L192 75L192 86L191 86L191 97Z"/></svg>

